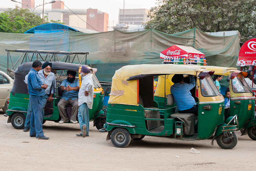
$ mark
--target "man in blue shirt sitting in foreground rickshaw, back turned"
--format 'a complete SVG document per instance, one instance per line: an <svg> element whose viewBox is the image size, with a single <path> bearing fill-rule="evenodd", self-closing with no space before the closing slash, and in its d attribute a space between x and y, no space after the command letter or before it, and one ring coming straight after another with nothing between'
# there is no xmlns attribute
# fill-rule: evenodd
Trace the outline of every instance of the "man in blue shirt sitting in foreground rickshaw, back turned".
<svg viewBox="0 0 256 171"><path fill-rule="evenodd" d="M190 82L187 84L184 83L182 74L175 74L172 78L174 85L170 87L170 92L173 95L179 113L193 113L197 116L198 106L189 91L196 86L196 81L192 75L189 78Z"/></svg>

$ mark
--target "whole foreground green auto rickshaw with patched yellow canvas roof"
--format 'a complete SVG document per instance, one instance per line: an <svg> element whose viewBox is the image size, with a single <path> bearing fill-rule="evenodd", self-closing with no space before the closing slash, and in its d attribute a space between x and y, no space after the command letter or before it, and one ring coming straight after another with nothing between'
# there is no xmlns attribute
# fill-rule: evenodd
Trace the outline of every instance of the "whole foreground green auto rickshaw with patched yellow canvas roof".
<svg viewBox="0 0 256 171"><path fill-rule="evenodd" d="M115 147L128 146L131 139L140 140L147 136L166 137L178 140L203 140L214 135L223 149L232 149L237 144L237 116L224 122L224 99L215 86L211 75L198 65L141 64L127 65L116 70L104 128L107 140ZM176 113L172 95L167 95L168 108L159 109L154 101L154 76L188 74L196 78L199 97L198 122L195 115ZM191 94L195 95L196 88ZM166 103L166 102L165 102ZM166 106L166 104L165 104ZM160 112L164 114L161 119ZM197 126L197 130L195 130Z"/></svg>

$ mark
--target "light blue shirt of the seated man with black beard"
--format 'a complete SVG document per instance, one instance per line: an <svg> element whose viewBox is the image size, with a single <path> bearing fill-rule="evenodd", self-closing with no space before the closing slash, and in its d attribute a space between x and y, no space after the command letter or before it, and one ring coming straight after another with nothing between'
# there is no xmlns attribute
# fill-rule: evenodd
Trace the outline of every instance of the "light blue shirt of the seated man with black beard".
<svg viewBox="0 0 256 171"><path fill-rule="evenodd" d="M63 80L60 86L67 86L70 87L79 87L79 80L75 79L73 83L70 83L67 79ZM68 100L69 98L71 98L72 100L77 99L78 98L78 91L75 90L71 90L71 91L66 91L64 90L61 96L62 99Z"/></svg>

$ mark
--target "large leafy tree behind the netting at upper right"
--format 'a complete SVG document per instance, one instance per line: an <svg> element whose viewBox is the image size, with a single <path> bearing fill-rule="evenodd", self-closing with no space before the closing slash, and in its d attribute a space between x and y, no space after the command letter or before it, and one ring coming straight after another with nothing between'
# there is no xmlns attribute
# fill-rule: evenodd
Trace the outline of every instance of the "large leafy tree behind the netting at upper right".
<svg viewBox="0 0 256 171"><path fill-rule="evenodd" d="M192 28L205 32L238 30L241 40L256 36L256 0L158 0L145 29L172 34Z"/></svg>

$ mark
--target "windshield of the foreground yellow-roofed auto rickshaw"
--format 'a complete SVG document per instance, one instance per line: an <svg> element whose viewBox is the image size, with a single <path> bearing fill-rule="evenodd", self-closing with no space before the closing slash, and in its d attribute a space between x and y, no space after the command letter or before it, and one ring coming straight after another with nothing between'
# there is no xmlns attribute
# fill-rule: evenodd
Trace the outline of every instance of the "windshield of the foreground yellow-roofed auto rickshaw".
<svg viewBox="0 0 256 171"><path fill-rule="evenodd" d="M220 95L219 90L214 84L211 76L207 74L204 79L200 79L201 94L204 97L218 96Z"/></svg>

